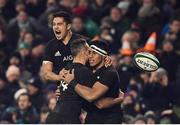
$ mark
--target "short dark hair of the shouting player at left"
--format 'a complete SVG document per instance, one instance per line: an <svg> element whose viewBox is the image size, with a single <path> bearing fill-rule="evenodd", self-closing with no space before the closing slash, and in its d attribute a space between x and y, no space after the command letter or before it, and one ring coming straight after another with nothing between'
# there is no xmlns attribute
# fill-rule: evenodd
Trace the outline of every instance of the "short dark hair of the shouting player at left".
<svg viewBox="0 0 180 125"><path fill-rule="evenodd" d="M71 14L66 12L66 11L59 11L59 12L56 12L56 13L52 14L52 19L54 19L55 17L63 17L64 21L67 24L72 23L72 16L71 16Z"/></svg>

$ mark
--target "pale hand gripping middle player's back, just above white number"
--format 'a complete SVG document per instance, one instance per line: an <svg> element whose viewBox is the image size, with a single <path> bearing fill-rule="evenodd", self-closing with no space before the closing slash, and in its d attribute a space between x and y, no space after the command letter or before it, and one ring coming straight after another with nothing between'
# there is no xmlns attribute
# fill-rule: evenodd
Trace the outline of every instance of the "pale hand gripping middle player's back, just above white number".
<svg viewBox="0 0 180 125"><path fill-rule="evenodd" d="M64 80L67 84L69 84L74 79L74 69L72 70L62 69L59 74L61 79Z"/></svg>

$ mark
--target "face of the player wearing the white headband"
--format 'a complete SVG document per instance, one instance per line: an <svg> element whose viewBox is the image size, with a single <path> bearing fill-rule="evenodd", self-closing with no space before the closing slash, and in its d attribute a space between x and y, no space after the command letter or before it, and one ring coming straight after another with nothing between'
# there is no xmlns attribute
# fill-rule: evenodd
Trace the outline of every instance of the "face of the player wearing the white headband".
<svg viewBox="0 0 180 125"><path fill-rule="evenodd" d="M89 64L91 67L98 67L102 61L103 61L104 57L92 50L89 51Z"/></svg>

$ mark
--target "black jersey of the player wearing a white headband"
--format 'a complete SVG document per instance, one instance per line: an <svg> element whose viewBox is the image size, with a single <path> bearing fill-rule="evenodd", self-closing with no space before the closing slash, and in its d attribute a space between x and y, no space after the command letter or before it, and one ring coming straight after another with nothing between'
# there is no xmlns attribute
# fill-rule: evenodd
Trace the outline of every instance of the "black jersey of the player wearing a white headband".
<svg viewBox="0 0 180 125"><path fill-rule="evenodd" d="M116 69L113 67L102 67L94 74L97 81L109 88L102 98L117 98L119 95L120 80ZM121 118L122 111L120 105L114 105L105 109L98 109L95 105L90 105L87 109L86 123L113 124L120 123Z"/></svg>

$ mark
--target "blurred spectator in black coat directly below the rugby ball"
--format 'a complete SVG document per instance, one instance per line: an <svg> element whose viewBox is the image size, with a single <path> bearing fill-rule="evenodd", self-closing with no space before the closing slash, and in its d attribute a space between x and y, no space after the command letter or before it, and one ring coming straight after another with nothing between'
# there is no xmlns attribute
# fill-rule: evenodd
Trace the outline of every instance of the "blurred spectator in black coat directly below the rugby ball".
<svg viewBox="0 0 180 125"><path fill-rule="evenodd" d="M170 106L170 88L167 71L163 68L151 73L149 82L144 85L142 97L148 110L161 113Z"/></svg>

